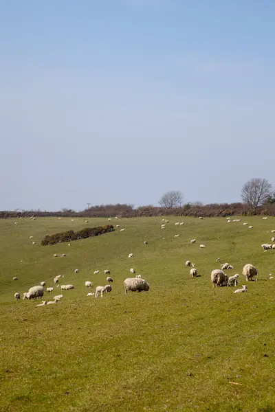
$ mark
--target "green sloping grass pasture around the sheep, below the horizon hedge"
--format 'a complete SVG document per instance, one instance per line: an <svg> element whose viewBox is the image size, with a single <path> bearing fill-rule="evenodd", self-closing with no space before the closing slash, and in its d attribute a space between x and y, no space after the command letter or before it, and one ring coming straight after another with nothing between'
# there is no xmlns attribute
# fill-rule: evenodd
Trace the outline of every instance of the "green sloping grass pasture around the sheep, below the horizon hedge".
<svg viewBox="0 0 275 412"><path fill-rule="evenodd" d="M275 251L261 250L275 218L169 221L161 230L161 218L113 219L124 232L71 247L40 242L47 233L108 220L0 221L0 411L275 411ZM259 282L248 282L241 294L212 288L218 257L234 266L229 275L240 274L239 286L246 263L256 266ZM186 260L201 277L190 277ZM132 267L150 284L148 293L124 295ZM87 297L85 281L106 284L107 268L113 291ZM57 305L14 299L41 281L54 286L59 274L75 289Z"/></svg>

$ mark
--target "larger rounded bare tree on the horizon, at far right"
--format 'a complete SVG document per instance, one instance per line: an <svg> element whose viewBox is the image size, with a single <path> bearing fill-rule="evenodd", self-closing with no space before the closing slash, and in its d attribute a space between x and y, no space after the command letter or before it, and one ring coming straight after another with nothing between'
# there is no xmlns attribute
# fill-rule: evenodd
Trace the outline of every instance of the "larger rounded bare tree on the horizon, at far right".
<svg viewBox="0 0 275 412"><path fill-rule="evenodd" d="M241 190L243 202L255 209L263 205L272 194L272 185L267 179L254 178L246 182Z"/></svg>

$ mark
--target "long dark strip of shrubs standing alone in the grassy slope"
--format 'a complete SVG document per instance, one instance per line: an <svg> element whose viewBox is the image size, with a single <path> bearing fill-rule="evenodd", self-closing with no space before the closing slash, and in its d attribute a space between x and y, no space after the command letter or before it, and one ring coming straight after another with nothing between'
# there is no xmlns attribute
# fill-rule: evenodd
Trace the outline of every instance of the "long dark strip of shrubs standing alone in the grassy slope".
<svg viewBox="0 0 275 412"><path fill-rule="evenodd" d="M56 244L61 242L72 242L72 240L78 239L87 239L114 230L115 229L113 229L113 225L107 225L104 227L85 227L85 229L82 229L77 232L69 230L61 233L54 233L53 235L45 236L45 238L41 242L41 245L46 246L47 244Z"/></svg>

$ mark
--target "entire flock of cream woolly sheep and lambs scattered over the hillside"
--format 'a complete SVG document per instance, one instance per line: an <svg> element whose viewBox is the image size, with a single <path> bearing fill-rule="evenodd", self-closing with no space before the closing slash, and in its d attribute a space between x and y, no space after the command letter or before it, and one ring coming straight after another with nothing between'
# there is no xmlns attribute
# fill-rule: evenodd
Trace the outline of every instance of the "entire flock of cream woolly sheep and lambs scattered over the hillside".
<svg viewBox="0 0 275 412"><path fill-rule="evenodd" d="M202 217L199 217L199 219L203 219ZM266 219L266 217L264 217L263 219ZM109 220L111 220L109 218ZM166 228L166 223L169 222L169 220L166 219L162 219L165 223L162 224L161 229L165 229ZM72 219L72 222L74 220ZM227 218L228 222L240 222L241 219L234 219L234 220L230 220L230 218ZM17 222L16 222L17 225ZM175 225L184 225L184 222L175 222ZM247 222L244 222L243 225L248 225ZM117 227L120 227L120 225L117 225ZM250 227L252 228L252 227ZM122 230L122 229L121 229ZM124 230L124 229L123 229ZM275 233L275 230L271 231L272 233ZM175 238L178 237L179 235L175 235ZM33 236L30 236L30 239L33 239ZM192 239L190 240L190 244L195 244L197 242L196 239ZM272 238L272 242L275 242L275 237ZM148 242L145 240L144 244L148 244ZM68 246L70 246L70 244L68 244ZM201 249L204 249L206 246L204 244L200 244L199 246ZM264 251L267 251L268 249L275 249L275 244L262 244L262 247L264 249ZM61 255L61 257L65 257L66 254L63 253ZM54 258L57 258L58 255L55 253L54 254ZM128 255L129 258L133 258L133 253L129 253ZM219 262L220 259L217 258L217 262ZM192 266L192 268L190 269L190 276L191 277L199 277L198 272L197 272L197 268L195 267L195 264L193 262L190 262L190 260L187 260L185 263L185 266ZM238 278L239 278L239 274L235 274L233 276L228 277L228 275L225 274L224 271L230 271L234 268L234 266L228 264L228 263L224 263L221 264L221 268L220 269L214 269L211 272L210 275L210 279L212 282L213 287L214 286L237 286L238 285ZM76 268L74 270L74 273L78 273L79 270ZM94 271L94 274L99 274L100 271L96 270ZM131 268L130 269L130 273L131 275L135 274L135 269ZM243 267L243 276L245 277L246 282L248 281L252 281L252 280L256 280L257 281L257 270L256 268L252 265L252 264L245 264L245 266ZM105 269L104 270L104 275L110 275L111 271L109 269ZM64 275L63 275L64 277ZM61 275L57 275L56 277L54 277L54 284L57 284L56 288L59 287L59 281L60 281ZM270 279L273 279L273 277L271 277L270 274ZM13 280L16 281L18 280L17 277L13 277ZM107 282L108 284L105 286L96 286L96 290L95 293L88 293L87 296L94 296L94 297L103 297L104 293L110 293L112 290L112 287L110 285L110 283L113 282L113 279L110 276L107 276ZM42 298L44 296L44 291L46 290L47 293L52 293L54 288L51 287L47 287L46 289L44 289L46 286L45 282L41 282L41 284L39 286L32 286L28 292L23 293L23 300L24 299L38 299L38 298ZM248 287L246 285L242 285L243 288L241 289L237 289L234 290L234 293L243 293L243 292L247 292ZM86 288L94 288L94 284L90 281L86 281L85 282L85 287ZM61 290L72 290L74 289L74 285L72 284L65 284L65 285L61 285L60 286ZM148 282L146 282L145 279L142 279L141 275L135 275L135 277L128 277L127 279L124 280L124 293L127 293L129 291L133 291L133 292L141 292L141 291L148 291L149 290L149 284ZM14 293L14 297L16 299L20 299L21 296L18 292ZM46 306L46 305L51 305L51 304L57 304L57 302L63 297L63 295L56 295L54 296L54 300L53 301L42 301L42 304L36 305L36 306Z"/></svg>

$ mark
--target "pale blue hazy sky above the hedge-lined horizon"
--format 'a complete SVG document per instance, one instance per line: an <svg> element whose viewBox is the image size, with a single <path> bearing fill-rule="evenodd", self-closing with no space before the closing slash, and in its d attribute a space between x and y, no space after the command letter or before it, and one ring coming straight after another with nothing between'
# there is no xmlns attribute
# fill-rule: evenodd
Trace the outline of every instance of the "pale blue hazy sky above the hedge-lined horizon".
<svg viewBox="0 0 275 412"><path fill-rule="evenodd" d="M0 209L272 184L274 0L1 0Z"/></svg>

